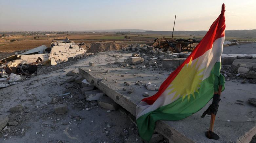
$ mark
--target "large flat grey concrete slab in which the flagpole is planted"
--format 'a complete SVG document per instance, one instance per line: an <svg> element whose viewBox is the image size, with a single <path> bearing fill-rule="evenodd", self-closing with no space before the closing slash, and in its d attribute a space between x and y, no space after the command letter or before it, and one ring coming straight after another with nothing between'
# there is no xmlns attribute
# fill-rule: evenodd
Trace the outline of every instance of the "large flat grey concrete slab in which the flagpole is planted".
<svg viewBox="0 0 256 143"><path fill-rule="evenodd" d="M108 70L106 75L103 71ZM88 70L91 71L88 71ZM127 72L128 74L125 74ZM171 73L170 71L148 69L130 69L128 67L113 68L112 65L81 67L79 73L93 83L99 90L136 116L135 107L144 98L142 93L150 96L157 91L148 91L143 84L148 81L160 87L161 83ZM125 75L121 77L121 75ZM142 78L143 77L143 78ZM139 85L135 84L139 81ZM124 82L130 85L125 86ZM182 143L249 143L256 134L255 107L248 99L256 96L254 84L226 82L226 90L222 93L219 111L214 124L214 132L219 140L209 140L205 132L209 129L210 116L200 118L210 101L197 113L180 121L157 121L155 130L166 136L170 142ZM126 91L123 88L126 87ZM132 91L128 94L128 91ZM243 96L241 96L243 95ZM238 104L241 103L241 104Z"/></svg>

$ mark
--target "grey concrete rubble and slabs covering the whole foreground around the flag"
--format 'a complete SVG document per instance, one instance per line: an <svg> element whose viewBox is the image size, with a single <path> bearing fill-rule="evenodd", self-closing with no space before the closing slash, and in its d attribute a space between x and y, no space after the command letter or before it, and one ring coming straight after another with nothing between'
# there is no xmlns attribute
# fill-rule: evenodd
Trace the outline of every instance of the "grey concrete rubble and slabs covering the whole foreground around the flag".
<svg viewBox="0 0 256 143"><path fill-rule="evenodd" d="M163 42L158 43L132 44L121 51L95 55L82 54L77 60L71 57L71 61L67 53L72 55L75 51L70 50L77 46L65 39L52 43L55 50L47 53L56 64L36 64L34 75L29 73L30 64L16 65L23 69L20 73L27 74L8 74L15 70L11 67L16 63L1 64L0 142L25 142L31 136L42 142L59 143L110 143L113 139L125 143L144 142L136 127L136 105L157 93L161 83L190 55L189 48L195 46L192 43L187 48L179 43L169 43L170 47L176 46L170 51L161 47ZM72 48L68 51L69 45ZM64 52L57 51L61 48ZM179 49L183 51L179 52ZM222 55L221 73L226 79L226 89L214 125L219 140L209 140L204 135L209 128L210 116L200 116L208 103L181 121L156 122L150 143L249 143L256 134L254 56ZM64 59L68 62L61 63ZM7 67L10 69L6 71Z"/></svg>

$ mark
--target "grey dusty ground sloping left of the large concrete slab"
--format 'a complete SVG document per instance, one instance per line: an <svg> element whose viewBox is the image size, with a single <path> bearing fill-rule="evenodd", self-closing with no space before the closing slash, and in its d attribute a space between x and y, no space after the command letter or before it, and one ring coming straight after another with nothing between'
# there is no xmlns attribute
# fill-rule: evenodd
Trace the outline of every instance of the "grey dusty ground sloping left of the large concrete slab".
<svg viewBox="0 0 256 143"><path fill-rule="evenodd" d="M41 69L37 76L29 80L1 89L0 115L8 116L9 122L17 121L19 124L2 130L0 142L122 143L129 136L138 136L137 127L131 122L125 109L120 108L108 113L107 109L99 107L97 102L88 102L82 98L80 84L65 82L69 78L66 76L69 70L78 73L78 67L88 66L89 61L104 65L115 60L115 57L108 54L100 54L58 64ZM77 76L78 74L75 74L73 77ZM67 89L68 85L73 87ZM53 96L63 93L70 93L60 96L59 101L67 104L69 111L56 115L55 104L50 102ZM25 107L23 112L8 111L10 107L19 104ZM86 107L89 107L89 110L85 110ZM161 141L163 142L165 140Z"/></svg>

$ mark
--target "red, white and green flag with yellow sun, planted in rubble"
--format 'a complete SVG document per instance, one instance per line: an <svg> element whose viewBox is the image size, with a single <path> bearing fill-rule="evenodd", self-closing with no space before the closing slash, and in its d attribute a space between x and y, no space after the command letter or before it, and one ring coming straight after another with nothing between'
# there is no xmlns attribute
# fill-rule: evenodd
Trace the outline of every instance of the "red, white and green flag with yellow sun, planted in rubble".
<svg viewBox="0 0 256 143"><path fill-rule="evenodd" d="M200 109L217 92L225 89L220 73L225 38L225 5L190 56L162 83L158 93L144 98L136 107L142 139L149 141L158 120L181 120Z"/></svg>

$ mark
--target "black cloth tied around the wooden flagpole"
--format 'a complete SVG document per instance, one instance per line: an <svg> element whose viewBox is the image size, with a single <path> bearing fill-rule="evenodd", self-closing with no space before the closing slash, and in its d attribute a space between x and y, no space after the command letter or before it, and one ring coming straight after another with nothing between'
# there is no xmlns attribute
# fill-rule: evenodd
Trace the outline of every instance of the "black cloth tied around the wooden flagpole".
<svg viewBox="0 0 256 143"><path fill-rule="evenodd" d="M205 115L211 115L214 114L216 115L217 112L218 112L218 108L219 108L219 105L220 105L220 96L219 94L214 94L213 95L213 98L212 98L212 104L206 109L206 111L203 113L203 115L201 116L201 118L204 118Z"/></svg>

